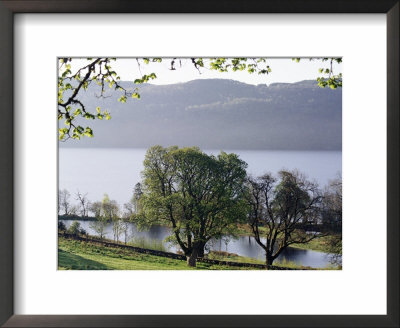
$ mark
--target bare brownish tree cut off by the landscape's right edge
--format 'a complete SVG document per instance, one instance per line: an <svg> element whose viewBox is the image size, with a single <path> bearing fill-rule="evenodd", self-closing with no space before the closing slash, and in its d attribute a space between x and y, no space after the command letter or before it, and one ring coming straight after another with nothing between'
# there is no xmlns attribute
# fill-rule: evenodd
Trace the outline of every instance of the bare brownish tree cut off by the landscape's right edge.
<svg viewBox="0 0 400 328"><path fill-rule="evenodd" d="M342 265L342 178L330 181L322 201L322 223L332 234L328 239L331 263Z"/></svg>

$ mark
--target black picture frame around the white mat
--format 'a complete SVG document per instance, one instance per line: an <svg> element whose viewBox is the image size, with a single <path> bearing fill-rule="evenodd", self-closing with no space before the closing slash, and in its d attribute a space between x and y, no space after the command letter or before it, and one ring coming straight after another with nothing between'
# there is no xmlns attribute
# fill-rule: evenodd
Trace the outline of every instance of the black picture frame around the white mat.
<svg viewBox="0 0 400 328"><path fill-rule="evenodd" d="M0 324L4 327L399 327L398 0L0 0ZM16 13L385 13L387 315L14 315L13 20ZM373 260L371 259L371 263Z"/></svg>

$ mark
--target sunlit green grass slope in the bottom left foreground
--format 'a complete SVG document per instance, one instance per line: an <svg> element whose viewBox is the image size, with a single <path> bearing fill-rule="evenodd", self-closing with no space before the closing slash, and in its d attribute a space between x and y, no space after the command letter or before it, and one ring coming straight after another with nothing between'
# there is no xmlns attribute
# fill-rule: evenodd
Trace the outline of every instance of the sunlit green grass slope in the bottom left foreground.
<svg viewBox="0 0 400 328"><path fill-rule="evenodd" d="M196 268L190 268L182 260L97 246L63 237L59 237L58 246L60 270L255 270L200 262Z"/></svg>

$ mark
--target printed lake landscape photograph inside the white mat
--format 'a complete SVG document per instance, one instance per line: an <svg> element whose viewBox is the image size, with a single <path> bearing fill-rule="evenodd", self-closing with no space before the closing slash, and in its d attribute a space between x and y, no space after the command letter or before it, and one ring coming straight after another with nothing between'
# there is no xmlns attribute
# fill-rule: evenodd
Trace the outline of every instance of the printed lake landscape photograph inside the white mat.
<svg viewBox="0 0 400 328"><path fill-rule="evenodd" d="M58 268L341 270L341 64L59 58Z"/></svg>

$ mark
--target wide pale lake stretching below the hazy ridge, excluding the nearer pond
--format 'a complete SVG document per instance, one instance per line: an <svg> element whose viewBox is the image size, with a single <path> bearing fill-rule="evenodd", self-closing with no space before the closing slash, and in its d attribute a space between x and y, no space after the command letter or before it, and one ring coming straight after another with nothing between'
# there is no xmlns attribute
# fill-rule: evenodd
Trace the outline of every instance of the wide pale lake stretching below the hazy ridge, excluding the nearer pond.
<svg viewBox="0 0 400 328"><path fill-rule="evenodd" d="M323 187L342 171L341 151L226 151L238 154L254 176L298 169ZM218 154L219 150L206 152ZM101 200L107 193L122 205L141 180L145 153L146 149L132 148L60 148L59 188L71 194L77 190L88 193L91 201Z"/></svg>

